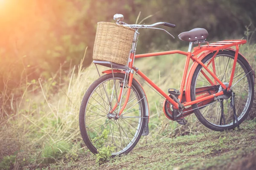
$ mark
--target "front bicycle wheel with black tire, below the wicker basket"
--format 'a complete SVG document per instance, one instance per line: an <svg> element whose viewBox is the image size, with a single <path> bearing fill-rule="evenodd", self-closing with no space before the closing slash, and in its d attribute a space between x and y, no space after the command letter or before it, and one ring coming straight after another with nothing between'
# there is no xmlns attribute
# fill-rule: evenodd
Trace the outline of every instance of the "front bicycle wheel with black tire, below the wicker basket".
<svg viewBox="0 0 256 170"><path fill-rule="evenodd" d="M119 119L114 116L119 106L110 113L116 104L121 87L128 83L125 74L106 74L88 88L81 102L79 127L88 149L96 154L102 147L112 146L112 156L130 152L140 139L145 123L145 103L140 85L132 82L128 104ZM125 85L124 85L125 83ZM124 88L122 103L127 89Z"/></svg>

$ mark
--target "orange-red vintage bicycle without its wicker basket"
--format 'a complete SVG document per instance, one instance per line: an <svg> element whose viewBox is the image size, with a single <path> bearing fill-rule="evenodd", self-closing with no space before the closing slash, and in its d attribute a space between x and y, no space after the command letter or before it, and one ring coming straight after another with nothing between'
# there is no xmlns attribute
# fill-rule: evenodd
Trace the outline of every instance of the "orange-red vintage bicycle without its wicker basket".
<svg viewBox="0 0 256 170"><path fill-rule="evenodd" d="M99 79L90 85L81 103L79 127L82 139L92 153L96 154L100 147L111 144L116 147L112 156L128 153L141 136L148 135L148 101L134 73L164 97L163 112L168 119L185 125L187 121L184 117L195 113L209 129L224 131L239 128L252 106L255 85L255 72L239 53L239 46L246 40L209 43L205 41L207 30L195 28L178 35L180 40L189 42L188 52L174 50L135 55L140 28L166 31L155 26L175 28L175 25L165 22L129 25L122 22L122 14L115 14L114 20L117 25L134 29L134 37L126 65L93 60L98 74L97 65L111 69L103 71L103 76L99 74ZM192 52L193 44L198 46ZM232 46L236 49L230 48ZM170 88L169 94L134 66L136 58L166 54L186 56L180 89ZM190 59L193 64L188 69Z"/></svg>

